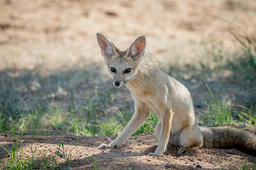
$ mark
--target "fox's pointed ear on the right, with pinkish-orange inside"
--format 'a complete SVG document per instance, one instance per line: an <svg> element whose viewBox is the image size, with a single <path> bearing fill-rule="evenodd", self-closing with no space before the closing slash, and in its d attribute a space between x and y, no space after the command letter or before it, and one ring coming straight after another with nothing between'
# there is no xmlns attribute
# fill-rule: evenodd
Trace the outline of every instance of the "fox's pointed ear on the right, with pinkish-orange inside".
<svg viewBox="0 0 256 170"><path fill-rule="evenodd" d="M127 50L126 57L131 57L134 59L134 61L137 61L144 56L145 48L146 37L139 36Z"/></svg>

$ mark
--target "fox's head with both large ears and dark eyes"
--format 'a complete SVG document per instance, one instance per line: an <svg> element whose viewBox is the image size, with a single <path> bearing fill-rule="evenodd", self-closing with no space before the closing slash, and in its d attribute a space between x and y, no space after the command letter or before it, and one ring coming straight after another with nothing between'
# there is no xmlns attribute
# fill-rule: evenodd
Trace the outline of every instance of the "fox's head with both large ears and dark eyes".
<svg viewBox="0 0 256 170"><path fill-rule="evenodd" d="M137 74L146 48L146 37L139 36L126 51L121 51L101 33L96 35L114 86L123 86Z"/></svg>

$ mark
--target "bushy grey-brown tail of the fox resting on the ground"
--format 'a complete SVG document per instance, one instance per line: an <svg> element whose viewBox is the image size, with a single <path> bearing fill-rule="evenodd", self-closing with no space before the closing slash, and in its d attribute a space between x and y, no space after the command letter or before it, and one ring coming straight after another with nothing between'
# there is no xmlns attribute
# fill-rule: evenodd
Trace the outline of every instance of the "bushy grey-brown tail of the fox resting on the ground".
<svg viewBox="0 0 256 170"><path fill-rule="evenodd" d="M236 148L255 154L256 135L251 131L234 126L201 126L200 130L203 134L203 147Z"/></svg>

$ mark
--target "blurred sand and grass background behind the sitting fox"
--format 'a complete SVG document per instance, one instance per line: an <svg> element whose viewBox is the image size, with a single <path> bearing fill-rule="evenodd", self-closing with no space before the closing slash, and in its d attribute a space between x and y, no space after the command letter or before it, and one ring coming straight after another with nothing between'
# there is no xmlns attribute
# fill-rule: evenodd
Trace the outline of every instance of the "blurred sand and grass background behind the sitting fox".
<svg viewBox="0 0 256 170"><path fill-rule="evenodd" d="M201 124L255 126L254 0L1 0L0 16L2 132L122 130L133 102L110 82L96 32L121 50L146 36L147 62L185 84Z"/></svg>

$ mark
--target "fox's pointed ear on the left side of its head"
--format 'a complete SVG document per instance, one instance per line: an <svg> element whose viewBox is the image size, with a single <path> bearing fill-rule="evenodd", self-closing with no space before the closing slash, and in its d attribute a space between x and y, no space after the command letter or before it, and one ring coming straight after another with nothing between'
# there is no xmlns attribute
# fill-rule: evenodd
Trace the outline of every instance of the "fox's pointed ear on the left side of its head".
<svg viewBox="0 0 256 170"><path fill-rule="evenodd" d="M104 35L101 33L96 33L96 36L98 45L101 49L101 55L104 57L105 61L108 61L110 58L117 55L113 44L108 39L106 39Z"/></svg>

